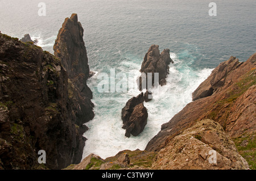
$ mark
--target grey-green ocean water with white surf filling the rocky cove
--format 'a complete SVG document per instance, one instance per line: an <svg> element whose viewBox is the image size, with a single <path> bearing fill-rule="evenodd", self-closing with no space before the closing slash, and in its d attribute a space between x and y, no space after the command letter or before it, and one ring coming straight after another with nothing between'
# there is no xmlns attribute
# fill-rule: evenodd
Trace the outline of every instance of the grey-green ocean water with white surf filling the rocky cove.
<svg viewBox="0 0 256 181"><path fill-rule="evenodd" d="M39 2L46 3L46 16L38 15ZM213 68L230 56L246 61L256 52L256 1L214 2L217 16L209 16L210 1L205 0L0 0L0 31L19 38L30 33L39 46L53 53L64 19L77 13L90 70L97 75L110 75L115 69L137 77L151 44L158 44L160 52L170 49L174 64L167 85L144 103L148 121L137 137L124 136L121 110L139 94L138 89L100 93L97 75L88 80L96 116L86 123L83 157L94 153L106 158L124 149L143 150L161 125L192 101L192 92Z"/></svg>

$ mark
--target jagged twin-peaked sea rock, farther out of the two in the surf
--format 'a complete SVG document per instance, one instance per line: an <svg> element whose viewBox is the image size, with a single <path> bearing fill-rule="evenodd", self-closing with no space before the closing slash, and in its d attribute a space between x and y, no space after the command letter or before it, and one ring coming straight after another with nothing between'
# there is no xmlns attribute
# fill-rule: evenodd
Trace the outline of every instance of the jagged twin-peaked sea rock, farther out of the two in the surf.
<svg viewBox="0 0 256 181"><path fill-rule="evenodd" d="M159 85L166 84L166 78L169 73L169 64L173 63L170 58L170 49L164 49L162 53L159 51L159 45L151 45L144 56L141 65L141 72L146 74L146 79L139 79L139 90L148 88L147 73L152 73L152 86L154 86L154 73L159 73ZM146 87L143 87L146 85Z"/></svg>

